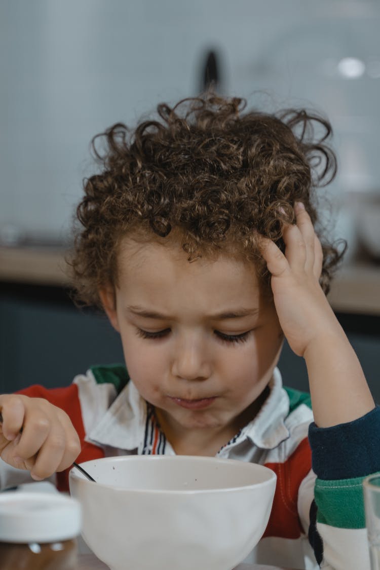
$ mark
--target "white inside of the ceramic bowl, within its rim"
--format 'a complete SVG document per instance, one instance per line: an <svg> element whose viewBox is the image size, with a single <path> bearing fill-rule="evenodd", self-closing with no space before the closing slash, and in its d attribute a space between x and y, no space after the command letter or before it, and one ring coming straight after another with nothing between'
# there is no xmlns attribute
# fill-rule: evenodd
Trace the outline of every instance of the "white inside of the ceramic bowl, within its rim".
<svg viewBox="0 0 380 570"><path fill-rule="evenodd" d="M85 479L77 469L71 470L71 479L136 491L200 491L270 486L275 478L273 471L254 463L186 455L109 457L87 461L81 466L96 483Z"/></svg>

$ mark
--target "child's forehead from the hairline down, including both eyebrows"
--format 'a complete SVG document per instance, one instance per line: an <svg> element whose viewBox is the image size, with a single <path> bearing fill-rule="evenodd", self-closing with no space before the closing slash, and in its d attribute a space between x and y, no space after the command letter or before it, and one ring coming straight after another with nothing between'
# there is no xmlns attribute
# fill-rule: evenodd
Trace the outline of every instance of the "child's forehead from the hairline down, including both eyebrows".
<svg viewBox="0 0 380 570"><path fill-rule="evenodd" d="M269 299L261 288L253 263L220 253L189 262L181 243L120 242L116 290L125 307L181 315L262 311Z"/></svg>

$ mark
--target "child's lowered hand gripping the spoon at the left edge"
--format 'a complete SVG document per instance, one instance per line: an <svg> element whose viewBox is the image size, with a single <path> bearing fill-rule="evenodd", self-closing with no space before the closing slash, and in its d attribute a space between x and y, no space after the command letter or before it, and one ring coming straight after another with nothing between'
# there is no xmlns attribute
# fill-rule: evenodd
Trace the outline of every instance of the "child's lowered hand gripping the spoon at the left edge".
<svg viewBox="0 0 380 570"><path fill-rule="evenodd" d="M0 396L0 457L40 481L70 467L80 453L67 413L43 398Z"/></svg>

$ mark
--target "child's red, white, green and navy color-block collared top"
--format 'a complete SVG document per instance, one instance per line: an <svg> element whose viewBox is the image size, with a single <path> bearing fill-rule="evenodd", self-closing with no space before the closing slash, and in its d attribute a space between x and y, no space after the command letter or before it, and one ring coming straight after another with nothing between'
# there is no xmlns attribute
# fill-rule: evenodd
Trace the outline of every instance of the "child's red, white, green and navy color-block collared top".
<svg viewBox="0 0 380 570"><path fill-rule="evenodd" d="M313 423L310 398L283 388L279 370L259 414L216 454L277 474L271 516L246 562L314 570L369 570L362 479L380 471L380 408L349 424ZM175 452L122 365L92 367L66 388L21 393L64 409L81 441L77 462L112 455ZM25 472L0 462L4 488ZM68 489L68 471L56 474ZM23 478L25 479L25 477Z"/></svg>

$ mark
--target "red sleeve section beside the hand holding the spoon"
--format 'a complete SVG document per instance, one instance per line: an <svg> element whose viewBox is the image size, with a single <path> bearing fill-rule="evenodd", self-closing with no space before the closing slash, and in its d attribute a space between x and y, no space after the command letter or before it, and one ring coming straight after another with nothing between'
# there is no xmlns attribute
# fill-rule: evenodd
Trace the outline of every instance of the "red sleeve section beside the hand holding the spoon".
<svg viewBox="0 0 380 570"><path fill-rule="evenodd" d="M90 459L99 459L104 457L104 451L101 447L97 447L93 443L84 441L85 431L83 426L78 388L76 384L71 384L66 388L44 388L38 384L29 386L23 390L16 392L31 398L44 398L54 406L64 410L70 417L73 426L80 439L81 451L76 458L77 463L89 461ZM56 474L57 488L59 491L68 491L68 473L71 467Z"/></svg>

